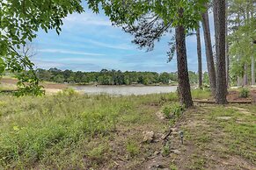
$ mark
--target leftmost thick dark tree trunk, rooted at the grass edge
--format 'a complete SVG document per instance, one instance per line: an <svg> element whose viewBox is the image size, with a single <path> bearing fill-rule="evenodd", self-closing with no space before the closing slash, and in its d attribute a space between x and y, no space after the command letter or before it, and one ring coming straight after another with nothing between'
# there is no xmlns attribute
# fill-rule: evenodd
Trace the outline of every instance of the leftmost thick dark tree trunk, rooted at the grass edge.
<svg viewBox="0 0 256 170"><path fill-rule="evenodd" d="M182 18L183 10L179 10L179 17ZM177 53L177 67L178 67L178 81L179 81L179 101L184 104L186 108L193 106L190 83L187 69L187 49L186 49L186 35L185 28L178 25L175 28L176 39L176 53Z"/></svg>

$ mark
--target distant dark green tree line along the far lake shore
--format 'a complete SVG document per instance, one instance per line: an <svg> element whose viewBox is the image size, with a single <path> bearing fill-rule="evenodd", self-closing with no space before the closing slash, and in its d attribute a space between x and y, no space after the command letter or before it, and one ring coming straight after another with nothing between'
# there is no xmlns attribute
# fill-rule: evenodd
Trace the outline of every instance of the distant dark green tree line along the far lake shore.
<svg viewBox="0 0 256 170"><path fill-rule="evenodd" d="M100 84L100 85L130 85L130 84L177 84L178 77L175 73L157 72L135 72L120 70L102 69L100 72L74 72L72 70L60 70L50 68L48 70L38 68L36 74L40 81L55 81L59 83L78 83L78 84ZM206 74L207 75L207 74ZM198 82L198 74L189 71L191 83ZM207 83L208 78L204 79Z"/></svg>

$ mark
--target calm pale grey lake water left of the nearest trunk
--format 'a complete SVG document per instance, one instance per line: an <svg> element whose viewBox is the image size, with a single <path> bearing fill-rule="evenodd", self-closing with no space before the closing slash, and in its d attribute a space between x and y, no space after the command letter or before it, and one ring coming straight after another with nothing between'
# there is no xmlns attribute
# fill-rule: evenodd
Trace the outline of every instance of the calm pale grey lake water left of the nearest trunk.
<svg viewBox="0 0 256 170"><path fill-rule="evenodd" d="M176 86L76 86L73 87L77 91L83 91L86 94L110 94L114 96L128 96L128 95L147 95L156 93L170 93L175 92Z"/></svg>

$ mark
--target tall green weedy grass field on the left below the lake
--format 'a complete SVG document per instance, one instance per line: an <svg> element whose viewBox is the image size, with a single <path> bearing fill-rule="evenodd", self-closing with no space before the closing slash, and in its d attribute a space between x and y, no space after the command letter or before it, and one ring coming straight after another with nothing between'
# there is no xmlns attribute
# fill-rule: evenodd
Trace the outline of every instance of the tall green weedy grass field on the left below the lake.
<svg viewBox="0 0 256 170"><path fill-rule="evenodd" d="M0 168L97 167L114 154L104 144L112 143L116 131L140 133L136 128L148 124L165 129L155 112L173 96L82 96L71 90L43 97L1 95ZM134 136L119 143L132 157L141 140Z"/></svg>

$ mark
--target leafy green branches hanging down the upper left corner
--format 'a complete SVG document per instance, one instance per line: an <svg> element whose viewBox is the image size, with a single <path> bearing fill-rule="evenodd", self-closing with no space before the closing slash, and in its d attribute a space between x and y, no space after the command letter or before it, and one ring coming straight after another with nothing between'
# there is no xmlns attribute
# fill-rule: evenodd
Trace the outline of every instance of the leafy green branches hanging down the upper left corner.
<svg viewBox="0 0 256 170"><path fill-rule="evenodd" d="M40 29L62 31L62 18L83 12L81 0L4 0L0 2L0 74L18 73L18 96L40 95L39 81L28 56L18 53L26 41L36 38ZM29 69L26 71L26 69ZM25 72L26 71L26 72Z"/></svg>

